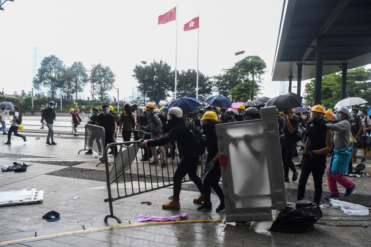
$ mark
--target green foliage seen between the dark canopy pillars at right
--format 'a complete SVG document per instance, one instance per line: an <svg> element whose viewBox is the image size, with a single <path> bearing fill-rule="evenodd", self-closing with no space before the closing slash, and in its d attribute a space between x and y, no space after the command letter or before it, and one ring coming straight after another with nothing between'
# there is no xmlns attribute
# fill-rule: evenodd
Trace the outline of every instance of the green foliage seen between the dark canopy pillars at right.
<svg viewBox="0 0 371 247"><path fill-rule="evenodd" d="M308 105L314 103L314 84L315 79L311 79L311 82L306 85L307 95L305 96L305 100ZM347 97L360 97L365 99L370 102L366 103L365 106L371 106L371 69L365 69L365 67L362 66L348 70L346 95ZM323 76L322 105L332 108L340 101L340 97L341 72Z"/></svg>

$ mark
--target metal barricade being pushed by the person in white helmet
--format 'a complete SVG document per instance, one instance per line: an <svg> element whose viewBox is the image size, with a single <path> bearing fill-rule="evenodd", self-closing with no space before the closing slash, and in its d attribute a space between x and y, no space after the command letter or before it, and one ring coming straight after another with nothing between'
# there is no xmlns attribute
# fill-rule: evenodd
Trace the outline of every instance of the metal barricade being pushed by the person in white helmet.
<svg viewBox="0 0 371 247"><path fill-rule="evenodd" d="M107 221L108 218L114 218L118 223L121 223L121 220L114 215L114 201L174 185L172 178L180 162L178 156L175 156L174 159L166 158L162 157L160 152L160 158L158 159L159 165L150 165L150 159L148 159L148 161L138 160L138 158L140 159L143 157L143 149L140 149L140 152L138 152L139 150L136 145L140 142L141 141L111 143L107 145L104 151L108 190L108 198L104 201L109 202L110 211L110 214L106 215L104 221ZM114 164L111 169L109 169L107 155L109 149L114 146L117 146L118 154L115 157ZM150 151L149 149L150 148L147 148L148 153ZM177 150L176 144L175 150ZM170 154L172 154L171 148ZM203 159L205 160L206 158ZM161 168L162 162L166 163L167 166ZM204 162L205 161L201 160L200 164L197 166L198 176L200 176L204 170ZM188 178L188 175L186 175L182 183L189 181L191 180Z"/></svg>

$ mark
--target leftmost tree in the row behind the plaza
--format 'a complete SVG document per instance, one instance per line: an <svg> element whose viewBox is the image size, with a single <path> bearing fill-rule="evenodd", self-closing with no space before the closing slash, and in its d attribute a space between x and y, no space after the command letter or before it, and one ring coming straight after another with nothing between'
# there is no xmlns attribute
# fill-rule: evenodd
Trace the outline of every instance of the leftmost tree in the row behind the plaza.
<svg viewBox="0 0 371 247"><path fill-rule="evenodd" d="M33 78L32 85L36 89L41 89L42 86L49 88L50 95L54 99L53 92L63 84L64 72L65 66L62 60L54 55L44 57L37 70L37 75Z"/></svg>

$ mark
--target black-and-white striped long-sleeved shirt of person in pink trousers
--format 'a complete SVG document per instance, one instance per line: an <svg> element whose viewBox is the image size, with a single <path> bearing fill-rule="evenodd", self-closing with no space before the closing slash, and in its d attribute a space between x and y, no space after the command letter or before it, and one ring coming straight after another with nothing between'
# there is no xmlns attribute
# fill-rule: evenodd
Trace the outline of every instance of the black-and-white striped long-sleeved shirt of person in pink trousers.
<svg viewBox="0 0 371 247"><path fill-rule="evenodd" d="M327 126L334 131L334 146L335 149L349 148L351 127L347 119L338 123L328 123Z"/></svg>

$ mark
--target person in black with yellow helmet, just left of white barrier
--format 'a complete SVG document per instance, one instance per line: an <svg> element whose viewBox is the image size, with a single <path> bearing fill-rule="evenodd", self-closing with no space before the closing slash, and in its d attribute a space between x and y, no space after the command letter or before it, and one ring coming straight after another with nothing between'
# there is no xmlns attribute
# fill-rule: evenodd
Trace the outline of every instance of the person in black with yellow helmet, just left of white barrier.
<svg viewBox="0 0 371 247"><path fill-rule="evenodd" d="M214 112L206 112L201 118L203 121L204 135L206 135L206 149L207 158L206 164L212 169L203 180L204 184L204 203L197 208L199 211L210 210L213 208L211 204L211 188L215 191L219 197L220 203L216 208L217 212L223 212L224 206L224 194L223 190L219 186L219 180L221 177L220 161L219 161L219 150L218 150L218 138L216 136L215 125L219 123L218 116ZM201 195L202 197L202 195Z"/></svg>

